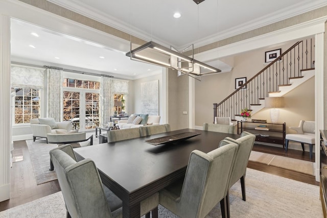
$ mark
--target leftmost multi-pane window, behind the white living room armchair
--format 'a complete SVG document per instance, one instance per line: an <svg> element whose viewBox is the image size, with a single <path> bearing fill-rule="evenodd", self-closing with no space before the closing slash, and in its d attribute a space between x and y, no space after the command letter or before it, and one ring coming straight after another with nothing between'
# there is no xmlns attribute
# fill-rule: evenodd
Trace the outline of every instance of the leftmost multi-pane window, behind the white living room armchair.
<svg viewBox="0 0 327 218"><path fill-rule="evenodd" d="M31 88L16 88L15 123L29 123L40 116L40 91Z"/></svg>

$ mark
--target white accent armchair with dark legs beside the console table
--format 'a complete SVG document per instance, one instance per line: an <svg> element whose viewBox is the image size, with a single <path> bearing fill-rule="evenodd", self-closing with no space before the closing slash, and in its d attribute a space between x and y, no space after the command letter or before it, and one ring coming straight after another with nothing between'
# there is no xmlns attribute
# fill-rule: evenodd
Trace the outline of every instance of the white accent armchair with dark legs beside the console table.
<svg viewBox="0 0 327 218"><path fill-rule="evenodd" d="M301 143L303 151L305 151L304 144L309 144L310 159L312 159L312 145L315 144L315 122L300 120L298 127L290 127L290 129L295 130L297 134L286 134L285 151L287 152L289 141Z"/></svg>

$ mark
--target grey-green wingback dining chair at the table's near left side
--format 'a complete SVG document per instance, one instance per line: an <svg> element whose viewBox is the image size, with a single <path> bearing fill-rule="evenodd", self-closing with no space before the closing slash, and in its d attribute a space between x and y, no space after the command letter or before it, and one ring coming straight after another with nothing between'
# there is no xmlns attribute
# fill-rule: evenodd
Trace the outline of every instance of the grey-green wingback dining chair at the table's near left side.
<svg viewBox="0 0 327 218"><path fill-rule="evenodd" d="M50 151L67 208L67 217L122 217L122 201L102 184L91 159L76 162L73 147L62 145ZM157 217L159 194L141 202L141 214L154 209Z"/></svg>

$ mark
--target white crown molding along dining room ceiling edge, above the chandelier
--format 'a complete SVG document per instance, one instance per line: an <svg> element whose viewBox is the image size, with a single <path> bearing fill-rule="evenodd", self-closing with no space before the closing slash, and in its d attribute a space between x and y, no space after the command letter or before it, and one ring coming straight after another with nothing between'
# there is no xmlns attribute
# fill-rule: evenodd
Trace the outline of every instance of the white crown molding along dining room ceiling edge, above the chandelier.
<svg viewBox="0 0 327 218"><path fill-rule="evenodd" d="M166 47L174 46L176 49L185 48L186 46L190 45L190 43L188 45L182 45L182 46L172 45L172 43L166 41L165 39L153 37L153 36L149 35L149 33L145 32L141 29L131 27L130 24L125 23L119 19L116 19L115 17L112 17L108 14L105 14L102 11L96 10L94 8L90 8L87 5L79 2L78 0L71 0L71 1L48 0L48 1L53 4L59 5L61 7L64 7L66 9L77 12L79 14L82 14L84 16L87 16L89 18L95 19L103 24L109 25L113 28L116 28L116 29L123 31L125 33L128 33L128 34L131 34L138 38L141 38L145 41L149 41L149 39L151 39L153 41L160 43L163 46L166 46ZM307 0L305 2L295 4L292 7L287 7L282 10L279 10L279 11L276 11L276 12L273 12L270 14L266 14L263 17L258 17L247 23L242 23L238 26L231 27L227 30L224 30L221 32L219 32L219 30L218 30L217 34L213 34L208 37L201 38L197 41L194 41L193 44L194 44L195 48L205 46L205 45L208 45L209 43L213 43L218 40L222 40L222 39L225 39L225 38L228 38L231 36L235 36L235 35L245 33L245 32L248 32L248 31L251 31L254 29L258 29L260 27L264 27L269 24L276 23L277 21L281 21L281 20L299 15L302 13L326 6L326 5L327 5L327 2L325 0L320 0L320 1L315 1L315 2L313 2L311 0Z"/></svg>

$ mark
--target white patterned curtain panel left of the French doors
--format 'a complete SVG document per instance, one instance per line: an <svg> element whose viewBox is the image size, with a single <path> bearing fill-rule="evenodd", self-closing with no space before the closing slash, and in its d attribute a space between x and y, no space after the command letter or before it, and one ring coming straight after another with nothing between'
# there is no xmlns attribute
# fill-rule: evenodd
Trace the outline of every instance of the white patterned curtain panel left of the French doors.
<svg viewBox="0 0 327 218"><path fill-rule="evenodd" d="M47 69L48 76L48 89L47 89L47 102L48 110L47 117L54 118L57 122L62 121L62 70Z"/></svg>

